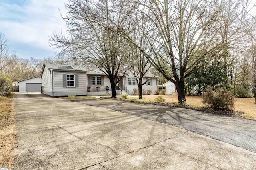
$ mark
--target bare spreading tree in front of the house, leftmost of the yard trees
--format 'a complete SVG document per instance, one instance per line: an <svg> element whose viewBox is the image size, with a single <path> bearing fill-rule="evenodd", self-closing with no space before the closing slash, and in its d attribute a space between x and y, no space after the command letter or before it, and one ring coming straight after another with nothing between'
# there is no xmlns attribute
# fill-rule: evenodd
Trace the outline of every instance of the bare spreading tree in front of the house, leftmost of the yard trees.
<svg viewBox="0 0 256 170"><path fill-rule="evenodd" d="M128 57L128 43L118 36L126 16L115 5L110 0L69 0L63 20L70 36L55 33L51 37L51 45L62 49L60 54L72 52L71 60L96 66L104 72L110 80L111 97L116 97L120 69L124 68ZM111 27L111 31L102 25Z"/></svg>

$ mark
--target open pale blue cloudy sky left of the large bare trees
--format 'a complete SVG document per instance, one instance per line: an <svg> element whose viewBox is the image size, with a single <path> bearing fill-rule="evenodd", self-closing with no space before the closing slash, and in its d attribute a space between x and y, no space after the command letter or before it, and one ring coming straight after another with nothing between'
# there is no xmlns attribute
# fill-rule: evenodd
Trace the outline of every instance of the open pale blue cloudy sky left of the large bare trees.
<svg viewBox="0 0 256 170"><path fill-rule="evenodd" d="M60 16L60 12L65 13L64 1L0 0L0 32L18 57L43 59L54 56L49 36L53 31L65 30Z"/></svg>

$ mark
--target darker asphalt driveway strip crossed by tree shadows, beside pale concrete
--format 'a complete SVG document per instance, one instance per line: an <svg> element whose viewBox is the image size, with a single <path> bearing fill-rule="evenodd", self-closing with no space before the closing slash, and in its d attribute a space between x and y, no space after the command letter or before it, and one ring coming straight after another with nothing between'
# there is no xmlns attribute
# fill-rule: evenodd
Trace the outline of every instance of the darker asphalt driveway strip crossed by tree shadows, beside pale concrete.
<svg viewBox="0 0 256 170"><path fill-rule="evenodd" d="M96 100L68 99L90 106L104 107L136 115L144 119L181 127L256 153L256 121L253 120L183 108L136 104L108 98Z"/></svg>

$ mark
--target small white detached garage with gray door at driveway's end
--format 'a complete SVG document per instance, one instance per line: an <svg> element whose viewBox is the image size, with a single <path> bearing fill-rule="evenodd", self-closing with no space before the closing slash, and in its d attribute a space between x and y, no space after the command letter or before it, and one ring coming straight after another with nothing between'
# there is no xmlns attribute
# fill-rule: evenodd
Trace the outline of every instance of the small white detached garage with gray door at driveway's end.
<svg viewBox="0 0 256 170"><path fill-rule="evenodd" d="M18 81L19 92L41 92L42 80L40 77Z"/></svg>

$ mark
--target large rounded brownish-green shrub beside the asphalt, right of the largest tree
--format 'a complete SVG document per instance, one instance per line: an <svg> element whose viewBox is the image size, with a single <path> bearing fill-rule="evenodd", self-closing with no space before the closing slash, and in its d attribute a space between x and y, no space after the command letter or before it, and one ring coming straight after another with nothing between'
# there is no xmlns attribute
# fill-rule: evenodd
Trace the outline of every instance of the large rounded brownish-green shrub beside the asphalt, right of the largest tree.
<svg viewBox="0 0 256 170"><path fill-rule="evenodd" d="M203 94L203 101L214 110L230 110L234 108L234 96L226 88L218 87L216 92L210 86Z"/></svg>

